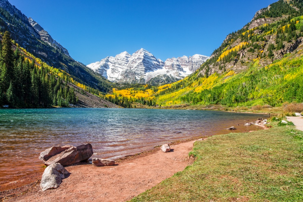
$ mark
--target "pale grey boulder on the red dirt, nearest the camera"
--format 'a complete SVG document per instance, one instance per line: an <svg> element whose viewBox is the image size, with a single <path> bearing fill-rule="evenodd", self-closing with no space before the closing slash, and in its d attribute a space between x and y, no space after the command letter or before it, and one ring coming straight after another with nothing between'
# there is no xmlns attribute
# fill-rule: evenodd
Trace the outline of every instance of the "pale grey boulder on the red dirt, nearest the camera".
<svg viewBox="0 0 303 202"><path fill-rule="evenodd" d="M58 188L62 182L62 179L67 177L68 171L60 164L54 163L45 168L40 188L42 191L52 188Z"/></svg>

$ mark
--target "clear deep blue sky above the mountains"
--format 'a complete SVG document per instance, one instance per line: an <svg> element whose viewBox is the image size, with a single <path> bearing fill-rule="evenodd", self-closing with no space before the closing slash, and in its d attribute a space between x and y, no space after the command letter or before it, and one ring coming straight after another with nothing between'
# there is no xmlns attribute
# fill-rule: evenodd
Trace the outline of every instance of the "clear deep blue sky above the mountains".
<svg viewBox="0 0 303 202"><path fill-rule="evenodd" d="M140 48L156 58L210 56L228 33L277 0L9 0L77 61Z"/></svg>

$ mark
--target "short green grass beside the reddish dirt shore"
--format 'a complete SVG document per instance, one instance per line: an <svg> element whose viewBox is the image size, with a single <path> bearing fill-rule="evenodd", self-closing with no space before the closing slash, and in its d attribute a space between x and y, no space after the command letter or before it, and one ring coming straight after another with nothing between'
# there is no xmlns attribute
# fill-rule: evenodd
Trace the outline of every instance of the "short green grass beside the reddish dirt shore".
<svg viewBox="0 0 303 202"><path fill-rule="evenodd" d="M191 166L131 201L303 201L303 133L277 123L195 142Z"/></svg>

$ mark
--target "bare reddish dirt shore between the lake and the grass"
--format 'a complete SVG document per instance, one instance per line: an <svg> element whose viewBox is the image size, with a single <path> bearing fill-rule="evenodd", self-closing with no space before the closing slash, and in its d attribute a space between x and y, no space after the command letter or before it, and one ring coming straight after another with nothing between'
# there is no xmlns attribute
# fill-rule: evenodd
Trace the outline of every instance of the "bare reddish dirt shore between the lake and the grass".
<svg viewBox="0 0 303 202"><path fill-rule="evenodd" d="M4 201L126 201L150 189L191 164L188 152L194 141L172 145L173 151L158 148L151 154L124 160L118 165L95 167L91 164L66 167L70 176L57 189L40 189L40 184L2 193ZM22 194L23 193L23 194ZM20 195L21 194L21 195ZM2 198L3 199L3 198ZM1 199L0 199L1 201Z"/></svg>

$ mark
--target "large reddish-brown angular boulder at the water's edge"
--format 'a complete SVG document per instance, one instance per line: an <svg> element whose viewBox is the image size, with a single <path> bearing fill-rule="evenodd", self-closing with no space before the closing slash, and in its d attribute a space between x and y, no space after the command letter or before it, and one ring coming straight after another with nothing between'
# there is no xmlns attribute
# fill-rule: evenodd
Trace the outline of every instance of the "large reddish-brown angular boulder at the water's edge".
<svg viewBox="0 0 303 202"><path fill-rule="evenodd" d="M45 165L49 166L53 163L60 163L67 166L80 161L88 160L93 155L91 144L82 144L79 146L53 146L40 153L40 160L45 161Z"/></svg>

